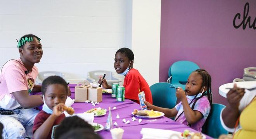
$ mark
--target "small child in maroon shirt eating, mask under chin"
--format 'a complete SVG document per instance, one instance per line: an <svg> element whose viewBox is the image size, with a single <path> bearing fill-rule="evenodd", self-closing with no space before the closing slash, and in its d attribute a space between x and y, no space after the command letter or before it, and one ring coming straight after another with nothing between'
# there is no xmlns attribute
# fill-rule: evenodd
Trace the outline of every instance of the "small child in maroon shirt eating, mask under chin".
<svg viewBox="0 0 256 139"><path fill-rule="evenodd" d="M42 83L43 109L36 115L33 125L34 139L50 139L52 127L65 118L67 83L60 76L49 76Z"/></svg>

